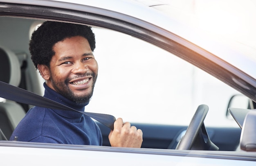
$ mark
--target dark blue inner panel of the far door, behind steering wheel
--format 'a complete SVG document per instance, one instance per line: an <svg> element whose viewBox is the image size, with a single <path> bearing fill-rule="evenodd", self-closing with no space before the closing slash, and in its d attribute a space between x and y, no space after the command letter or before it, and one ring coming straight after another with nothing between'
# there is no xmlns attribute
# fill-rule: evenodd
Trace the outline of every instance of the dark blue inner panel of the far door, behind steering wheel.
<svg viewBox="0 0 256 166"><path fill-rule="evenodd" d="M99 122L97 124L102 132L103 146L110 146L108 141L110 129ZM142 148L157 149L175 149L178 143L177 138L187 128L186 126L160 124L132 123L132 125L143 132ZM208 127L207 133L211 141L219 147L220 151L234 151L239 144L241 129Z"/></svg>

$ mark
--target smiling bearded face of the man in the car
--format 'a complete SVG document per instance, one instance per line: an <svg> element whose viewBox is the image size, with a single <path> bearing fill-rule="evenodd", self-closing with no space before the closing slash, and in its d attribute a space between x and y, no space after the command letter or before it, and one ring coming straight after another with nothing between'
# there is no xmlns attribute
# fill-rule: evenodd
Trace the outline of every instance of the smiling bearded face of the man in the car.
<svg viewBox="0 0 256 166"><path fill-rule="evenodd" d="M53 50L50 68L45 69L48 75L42 74L46 84L76 103L88 102L98 74L98 64L88 40L81 36L66 38L56 43Z"/></svg>

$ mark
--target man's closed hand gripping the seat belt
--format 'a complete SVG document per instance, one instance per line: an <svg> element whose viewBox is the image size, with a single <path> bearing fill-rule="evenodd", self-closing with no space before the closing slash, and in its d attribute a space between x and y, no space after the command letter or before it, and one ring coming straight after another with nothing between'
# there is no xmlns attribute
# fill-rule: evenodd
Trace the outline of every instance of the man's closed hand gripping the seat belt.
<svg viewBox="0 0 256 166"><path fill-rule="evenodd" d="M130 148L140 148L143 141L141 129L131 126L129 122L124 123L122 118L115 121L108 139L111 146Z"/></svg>

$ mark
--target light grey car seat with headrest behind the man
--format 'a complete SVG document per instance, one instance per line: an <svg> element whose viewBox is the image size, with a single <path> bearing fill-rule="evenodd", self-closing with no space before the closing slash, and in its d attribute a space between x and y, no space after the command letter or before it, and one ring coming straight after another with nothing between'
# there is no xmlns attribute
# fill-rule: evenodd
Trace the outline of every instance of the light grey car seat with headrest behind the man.
<svg viewBox="0 0 256 166"><path fill-rule="evenodd" d="M18 87L21 79L18 57L8 48L0 46L0 58L0 81ZM3 100L0 102L0 128L7 139L10 138L25 114L22 106L14 101Z"/></svg>

